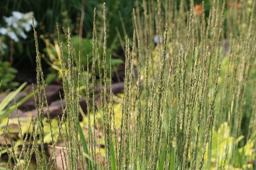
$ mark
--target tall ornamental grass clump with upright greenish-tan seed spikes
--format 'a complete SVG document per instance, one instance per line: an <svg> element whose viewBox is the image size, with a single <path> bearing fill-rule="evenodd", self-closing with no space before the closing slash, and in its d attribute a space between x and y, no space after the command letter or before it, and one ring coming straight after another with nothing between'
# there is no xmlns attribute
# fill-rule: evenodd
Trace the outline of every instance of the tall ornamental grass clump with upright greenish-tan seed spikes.
<svg viewBox="0 0 256 170"><path fill-rule="evenodd" d="M31 135L26 133L24 137L17 112L22 138L19 155L14 150L15 142L7 144L6 136L10 135L8 126L5 127L0 156L5 147L8 154L6 168L28 169L32 154L35 154L38 169L185 170L247 169L253 166L256 90L249 85L255 84L255 2L250 18L244 20L248 30L237 37L236 34L232 35L232 31L226 32L224 29L225 10L228 10L225 9L225 1L220 4L213 0L208 18L204 14L204 3L202 13L194 15L194 1L191 1L187 16L184 15L184 1L179 4L179 11L176 11L176 5L176 1L157 1L157 6L154 6L153 1L147 4L143 0L141 16L138 2L135 1L132 43L128 36L125 37L121 113L114 109L111 64L110 74L107 71L105 4L102 54L99 52L94 9L91 68L89 65L82 66L81 57L84 56L79 55L78 61L74 59L70 31L67 35L66 63L57 24L66 107L62 105L65 116L58 117L59 131L56 137L52 133L34 27L39 89L37 92L34 90L35 101L39 101L35 103L37 116L32 117L29 124ZM156 43L153 42L155 33L158 38ZM221 45L224 35L230 42L225 55ZM99 77L95 74L97 65ZM84 68L87 68L87 73ZM95 99L97 78L101 88L100 103ZM87 102L86 134L79 122L80 80L83 82ZM254 97L250 98L247 93L251 89ZM49 155L44 147L44 103L52 142ZM115 124L116 114L122 116L120 127ZM245 126L242 122L247 117L250 121ZM244 127L248 127L246 132ZM101 137L104 145L100 145ZM61 147L57 143L61 143ZM59 155L56 150L60 150L58 153L61 160L57 159ZM100 154L102 150L104 155ZM243 155L242 158L240 155Z"/></svg>

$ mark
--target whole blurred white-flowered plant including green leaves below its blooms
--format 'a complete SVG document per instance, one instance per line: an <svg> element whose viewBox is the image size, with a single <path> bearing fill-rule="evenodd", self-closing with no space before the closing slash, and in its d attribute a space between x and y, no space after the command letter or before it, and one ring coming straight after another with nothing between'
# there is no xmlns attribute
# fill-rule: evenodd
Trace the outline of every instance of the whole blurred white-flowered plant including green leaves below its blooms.
<svg viewBox="0 0 256 170"><path fill-rule="evenodd" d="M23 50L20 38L27 38L26 32L29 32L32 28L32 16L33 12L23 14L18 11L13 11L10 17L3 16L5 23L0 25L0 80L3 80L3 89L19 85L17 82L11 82L15 78L15 73L17 73L17 70L12 68L16 49L14 43L17 44L17 49L21 53ZM35 24L37 25L37 22ZM6 53L7 51L10 52ZM4 61L3 56L8 54L9 61Z"/></svg>

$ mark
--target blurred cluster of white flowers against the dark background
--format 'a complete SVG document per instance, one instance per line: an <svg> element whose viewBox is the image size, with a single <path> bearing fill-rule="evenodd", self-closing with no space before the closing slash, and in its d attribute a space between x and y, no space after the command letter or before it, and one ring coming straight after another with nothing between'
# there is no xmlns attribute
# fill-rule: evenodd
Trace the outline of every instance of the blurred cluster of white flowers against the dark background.
<svg viewBox="0 0 256 170"><path fill-rule="evenodd" d="M0 26L0 34L10 37L14 42L19 41L19 37L23 39L27 38L25 32L29 32L32 29L32 19L34 12L21 13L18 11L13 11L12 16L3 19L6 22L6 27ZM37 26L37 21L34 18L35 27ZM0 54L4 53L4 49L7 46L4 44L3 39L0 37Z"/></svg>

